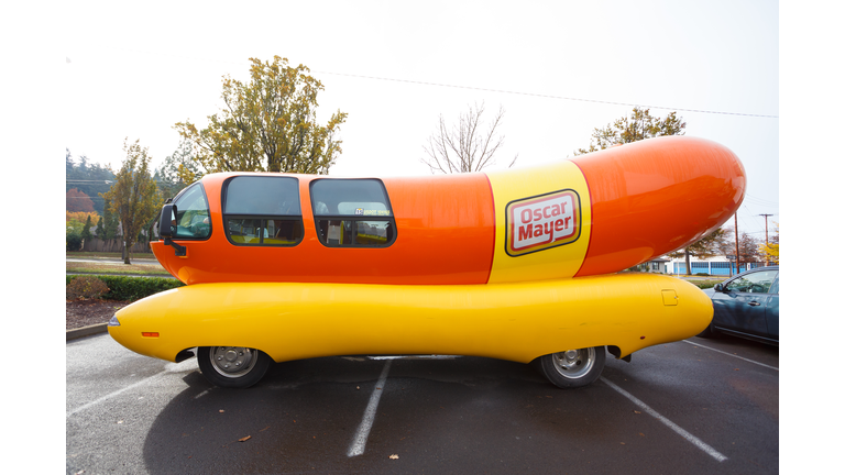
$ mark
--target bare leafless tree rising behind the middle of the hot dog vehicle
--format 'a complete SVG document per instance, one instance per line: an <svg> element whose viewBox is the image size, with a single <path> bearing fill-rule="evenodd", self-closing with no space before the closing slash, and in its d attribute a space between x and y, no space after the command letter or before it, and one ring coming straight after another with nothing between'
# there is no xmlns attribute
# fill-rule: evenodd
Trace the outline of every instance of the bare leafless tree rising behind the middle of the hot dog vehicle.
<svg viewBox="0 0 845 475"><path fill-rule="evenodd" d="M486 132L482 130L483 114L484 102L481 106L470 106L451 130L446 125L443 115L440 115L440 126L428 139L428 146L422 145L422 150L428 154L428 158L422 158L422 163L428 165L431 173L480 172L495 163L493 155L505 142L504 135L496 135L496 129L502 123L505 110L498 108L498 113L493 118ZM519 154L514 156L508 168L514 166L518 156Z"/></svg>

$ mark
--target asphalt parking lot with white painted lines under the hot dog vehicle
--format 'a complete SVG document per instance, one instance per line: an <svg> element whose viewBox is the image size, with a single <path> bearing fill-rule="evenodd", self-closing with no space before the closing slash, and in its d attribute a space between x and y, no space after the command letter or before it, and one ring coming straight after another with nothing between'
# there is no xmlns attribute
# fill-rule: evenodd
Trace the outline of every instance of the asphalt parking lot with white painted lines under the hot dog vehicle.
<svg viewBox="0 0 845 475"><path fill-rule="evenodd" d="M479 357L327 357L250 389L107 334L66 344L66 472L777 473L779 350L659 345L558 389Z"/></svg>

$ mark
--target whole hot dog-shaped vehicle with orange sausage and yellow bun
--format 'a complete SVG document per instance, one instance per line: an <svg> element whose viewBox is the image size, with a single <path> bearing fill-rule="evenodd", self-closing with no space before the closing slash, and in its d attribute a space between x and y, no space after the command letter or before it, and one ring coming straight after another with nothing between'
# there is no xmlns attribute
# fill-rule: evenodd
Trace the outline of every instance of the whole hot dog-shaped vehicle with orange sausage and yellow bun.
<svg viewBox="0 0 845 475"><path fill-rule="evenodd" d="M186 286L119 310L109 333L171 362L196 350L222 387L272 362L413 354L536 361L580 387L606 352L707 327L693 285L619 272L714 231L745 189L732 151L688 136L449 176L210 174L168 200L152 243Z"/></svg>

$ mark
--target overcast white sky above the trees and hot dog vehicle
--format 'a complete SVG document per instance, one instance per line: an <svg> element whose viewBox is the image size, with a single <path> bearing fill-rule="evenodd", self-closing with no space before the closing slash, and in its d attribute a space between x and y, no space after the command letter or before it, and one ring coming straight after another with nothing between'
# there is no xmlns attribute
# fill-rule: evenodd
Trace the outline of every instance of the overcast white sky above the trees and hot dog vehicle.
<svg viewBox="0 0 845 475"><path fill-rule="evenodd" d="M160 165L176 122L219 111L223 75L245 79L250 57L279 55L323 82L322 122L349 113L331 175L429 174L420 158L439 114L471 103L505 110L498 166L572 155L640 104L678 110L688 135L740 157L740 231L762 239L758 214L776 214L770 230L779 219L777 2L144 2L67 14L63 139L75 158L119 167L129 137Z"/></svg>

